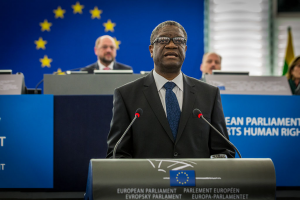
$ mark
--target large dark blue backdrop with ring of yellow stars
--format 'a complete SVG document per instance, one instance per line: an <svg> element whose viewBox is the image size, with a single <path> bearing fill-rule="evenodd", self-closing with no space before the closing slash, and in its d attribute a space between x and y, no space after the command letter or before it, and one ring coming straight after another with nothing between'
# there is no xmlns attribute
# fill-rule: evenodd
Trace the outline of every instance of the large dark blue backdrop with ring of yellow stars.
<svg viewBox="0 0 300 200"><path fill-rule="evenodd" d="M0 69L22 72L29 88L43 74L95 63L94 45L102 35L115 38L117 62L134 73L151 71L150 35L167 20L188 34L183 73L200 78L204 0L1 0L0 7Z"/></svg>

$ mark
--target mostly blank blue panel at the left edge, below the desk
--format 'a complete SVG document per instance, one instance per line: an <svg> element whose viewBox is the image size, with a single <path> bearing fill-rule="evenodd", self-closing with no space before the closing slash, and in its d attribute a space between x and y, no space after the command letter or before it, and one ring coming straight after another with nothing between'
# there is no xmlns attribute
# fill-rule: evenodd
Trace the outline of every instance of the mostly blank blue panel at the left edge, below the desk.
<svg viewBox="0 0 300 200"><path fill-rule="evenodd" d="M0 95L0 188L53 187L53 95Z"/></svg>

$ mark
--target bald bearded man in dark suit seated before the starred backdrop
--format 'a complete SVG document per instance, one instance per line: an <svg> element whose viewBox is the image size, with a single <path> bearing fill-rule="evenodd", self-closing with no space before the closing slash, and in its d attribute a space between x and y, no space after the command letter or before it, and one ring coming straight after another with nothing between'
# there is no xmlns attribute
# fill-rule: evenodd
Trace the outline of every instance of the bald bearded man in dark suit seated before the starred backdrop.
<svg viewBox="0 0 300 200"><path fill-rule="evenodd" d="M97 62L82 68L81 71L88 71L89 74L94 70L131 70L132 68L116 62L117 55L116 43L109 35L104 35L96 40L94 47Z"/></svg>

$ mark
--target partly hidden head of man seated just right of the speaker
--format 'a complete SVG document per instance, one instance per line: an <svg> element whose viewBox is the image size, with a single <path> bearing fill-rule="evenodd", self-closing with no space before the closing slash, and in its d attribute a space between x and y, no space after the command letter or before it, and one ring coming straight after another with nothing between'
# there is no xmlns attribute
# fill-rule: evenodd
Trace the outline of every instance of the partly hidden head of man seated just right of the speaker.
<svg viewBox="0 0 300 200"><path fill-rule="evenodd" d="M212 74L214 69L221 69L221 58L217 54L211 53L204 57L200 70L203 73Z"/></svg>

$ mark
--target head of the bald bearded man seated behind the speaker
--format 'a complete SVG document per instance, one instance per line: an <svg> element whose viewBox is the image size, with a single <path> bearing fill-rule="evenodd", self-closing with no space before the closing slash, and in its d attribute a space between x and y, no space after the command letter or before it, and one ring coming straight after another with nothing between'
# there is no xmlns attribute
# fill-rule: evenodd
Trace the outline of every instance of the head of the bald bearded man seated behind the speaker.
<svg viewBox="0 0 300 200"><path fill-rule="evenodd" d="M116 45L109 37L101 38L99 44L94 48L95 54L103 64L110 64L116 57Z"/></svg>

